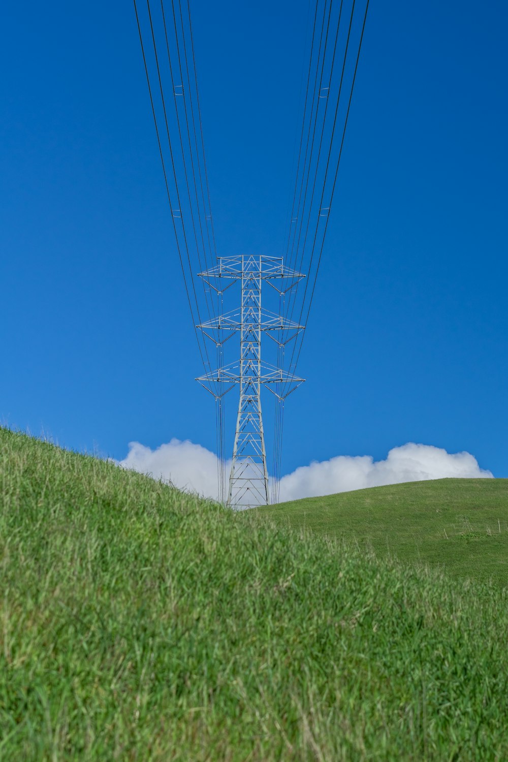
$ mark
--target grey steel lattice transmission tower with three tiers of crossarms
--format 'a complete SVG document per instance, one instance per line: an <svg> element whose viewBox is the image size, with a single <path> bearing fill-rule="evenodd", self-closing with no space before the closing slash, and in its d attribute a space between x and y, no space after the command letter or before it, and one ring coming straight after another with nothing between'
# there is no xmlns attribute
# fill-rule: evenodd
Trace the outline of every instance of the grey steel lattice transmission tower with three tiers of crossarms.
<svg viewBox="0 0 508 762"><path fill-rule="evenodd" d="M218 257L218 263L199 273L200 277L221 299L225 290L240 281L241 306L197 327L217 347L239 333L240 359L217 370L208 370L196 380L216 399L222 398L236 384L240 386L227 504L235 508L253 507L269 502L261 386L282 402L304 381L279 365L261 359L263 334L283 347L304 327L262 307L261 285L265 281L283 299L304 276L285 267L281 257Z"/></svg>

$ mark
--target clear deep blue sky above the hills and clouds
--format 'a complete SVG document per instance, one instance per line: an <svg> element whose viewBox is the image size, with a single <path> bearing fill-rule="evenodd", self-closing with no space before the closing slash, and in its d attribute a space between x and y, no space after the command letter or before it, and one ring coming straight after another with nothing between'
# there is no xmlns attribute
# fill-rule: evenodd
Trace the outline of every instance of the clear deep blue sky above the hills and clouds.
<svg viewBox="0 0 508 762"><path fill-rule="evenodd" d="M218 248L277 255L307 4L191 5ZM507 17L371 0L283 472L415 441L508 476ZM116 458L213 450L133 6L2 27L0 418Z"/></svg>

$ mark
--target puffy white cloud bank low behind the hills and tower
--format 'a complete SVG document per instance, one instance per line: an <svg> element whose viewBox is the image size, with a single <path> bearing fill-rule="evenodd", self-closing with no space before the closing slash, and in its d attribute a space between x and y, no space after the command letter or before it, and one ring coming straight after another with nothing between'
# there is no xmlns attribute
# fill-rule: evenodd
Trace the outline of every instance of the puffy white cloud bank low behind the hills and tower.
<svg viewBox="0 0 508 762"><path fill-rule="evenodd" d="M171 481L181 489L217 498L217 456L189 440L172 439L155 450L130 442L126 458L117 463L154 479ZM230 467L231 461L226 463L226 475ZM481 469L470 453L447 453L429 444L408 442L390 450L385 460L338 455L300 466L280 480L280 501L444 477L492 479L493 474Z"/></svg>

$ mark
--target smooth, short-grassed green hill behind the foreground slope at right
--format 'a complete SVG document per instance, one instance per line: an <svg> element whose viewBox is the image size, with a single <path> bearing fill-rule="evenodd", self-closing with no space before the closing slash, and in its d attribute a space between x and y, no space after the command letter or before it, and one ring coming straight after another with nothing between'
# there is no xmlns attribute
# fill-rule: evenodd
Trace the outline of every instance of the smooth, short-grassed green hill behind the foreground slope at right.
<svg viewBox="0 0 508 762"><path fill-rule="evenodd" d="M508 479L436 479L260 509L282 526L508 586Z"/></svg>

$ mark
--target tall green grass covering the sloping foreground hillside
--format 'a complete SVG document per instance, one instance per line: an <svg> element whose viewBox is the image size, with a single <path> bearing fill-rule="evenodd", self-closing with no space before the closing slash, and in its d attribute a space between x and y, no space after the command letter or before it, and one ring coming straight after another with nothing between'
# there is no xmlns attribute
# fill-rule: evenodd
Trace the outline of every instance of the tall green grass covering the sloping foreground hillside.
<svg viewBox="0 0 508 762"><path fill-rule="evenodd" d="M508 758L496 586L5 430L0 493L0 759Z"/></svg>

